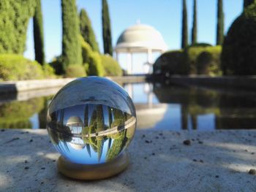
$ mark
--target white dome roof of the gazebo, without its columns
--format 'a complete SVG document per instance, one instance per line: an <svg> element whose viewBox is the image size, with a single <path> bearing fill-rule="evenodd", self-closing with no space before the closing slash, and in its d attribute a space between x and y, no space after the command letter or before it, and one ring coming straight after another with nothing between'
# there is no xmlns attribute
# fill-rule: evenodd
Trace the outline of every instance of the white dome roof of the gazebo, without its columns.
<svg viewBox="0 0 256 192"><path fill-rule="evenodd" d="M165 44L162 35L152 26L136 24L130 26L120 35L116 43L116 52L145 52L165 51Z"/></svg>

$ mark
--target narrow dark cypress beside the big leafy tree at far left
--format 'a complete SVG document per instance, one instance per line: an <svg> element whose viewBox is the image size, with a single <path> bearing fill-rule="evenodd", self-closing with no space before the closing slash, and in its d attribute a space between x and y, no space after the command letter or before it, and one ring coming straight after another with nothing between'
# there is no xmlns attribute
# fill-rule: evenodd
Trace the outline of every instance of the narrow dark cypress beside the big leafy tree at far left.
<svg viewBox="0 0 256 192"><path fill-rule="evenodd" d="M37 0L37 7L35 8L33 17L33 29L34 29L34 55L35 60L43 65L45 64L45 52L44 52L44 33L42 26L42 10L41 0Z"/></svg>

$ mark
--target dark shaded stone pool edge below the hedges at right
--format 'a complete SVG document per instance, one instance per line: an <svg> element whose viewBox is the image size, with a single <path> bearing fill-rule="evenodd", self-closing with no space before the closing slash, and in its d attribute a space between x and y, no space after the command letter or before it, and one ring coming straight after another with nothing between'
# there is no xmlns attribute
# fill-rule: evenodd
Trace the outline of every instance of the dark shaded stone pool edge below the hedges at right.
<svg viewBox="0 0 256 192"><path fill-rule="evenodd" d="M208 77L172 75L167 81L179 85L203 85L221 88L256 90L256 76Z"/></svg>

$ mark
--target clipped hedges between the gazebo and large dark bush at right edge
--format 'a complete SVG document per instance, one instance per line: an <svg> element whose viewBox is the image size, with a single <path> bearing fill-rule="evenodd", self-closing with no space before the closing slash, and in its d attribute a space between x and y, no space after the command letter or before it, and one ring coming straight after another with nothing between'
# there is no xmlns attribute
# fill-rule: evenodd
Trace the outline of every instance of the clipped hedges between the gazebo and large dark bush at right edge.
<svg viewBox="0 0 256 192"><path fill-rule="evenodd" d="M162 54L154 64L154 73L221 75L222 47L198 45Z"/></svg>

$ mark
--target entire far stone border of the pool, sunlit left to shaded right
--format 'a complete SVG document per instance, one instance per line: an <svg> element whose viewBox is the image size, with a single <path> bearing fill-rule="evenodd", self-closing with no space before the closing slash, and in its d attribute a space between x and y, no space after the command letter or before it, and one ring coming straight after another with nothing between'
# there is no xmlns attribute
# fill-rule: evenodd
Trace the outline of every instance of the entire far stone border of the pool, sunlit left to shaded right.
<svg viewBox="0 0 256 192"><path fill-rule="evenodd" d="M107 77L116 82L143 82L165 81L178 85L201 85L218 88L241 88L245 90L256 90L256 76L230 76L230 77L208 77L203 75L171 75L163 77L159 75L129 75L121 77ZM21 91L39 90L45 88L58 88L66 85L75 78L50 79L50 80L23 80L0 82L0 93L15 93Z"/></svg>

